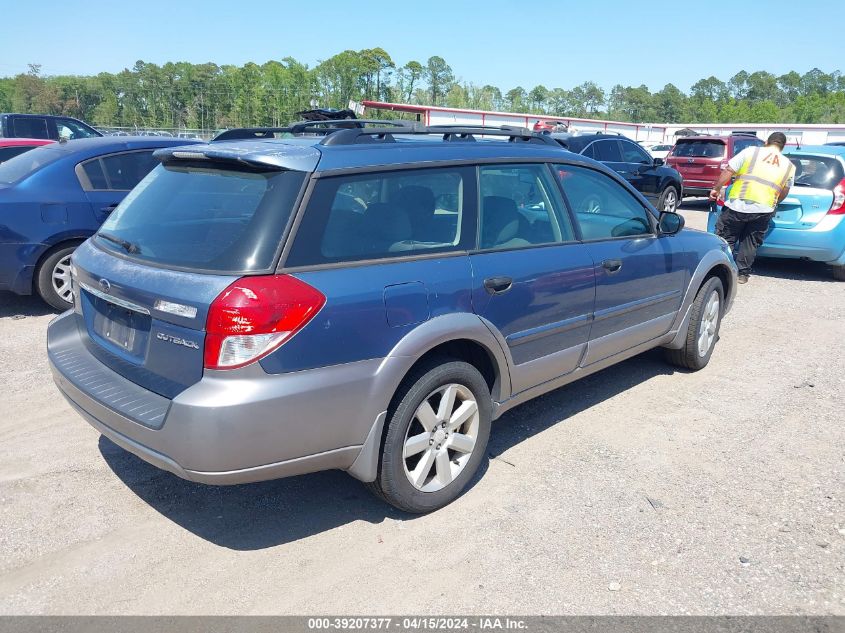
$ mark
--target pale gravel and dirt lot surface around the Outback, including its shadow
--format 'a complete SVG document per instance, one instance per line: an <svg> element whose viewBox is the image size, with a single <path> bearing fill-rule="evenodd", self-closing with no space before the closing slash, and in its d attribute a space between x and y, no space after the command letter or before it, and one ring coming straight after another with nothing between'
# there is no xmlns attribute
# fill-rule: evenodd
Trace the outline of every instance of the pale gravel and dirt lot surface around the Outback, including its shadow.
<svg viewBox="0 0 845 633"><path fill-rule="evenodd" d="M687 205L691 226L705 207ZM767 262L704 371L649 352L509 412L451 506L339 472L182 481L59 396L0 294L0 613L845 614L845 283Z"/></svg>

